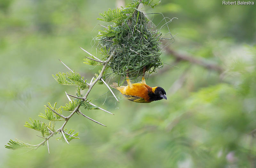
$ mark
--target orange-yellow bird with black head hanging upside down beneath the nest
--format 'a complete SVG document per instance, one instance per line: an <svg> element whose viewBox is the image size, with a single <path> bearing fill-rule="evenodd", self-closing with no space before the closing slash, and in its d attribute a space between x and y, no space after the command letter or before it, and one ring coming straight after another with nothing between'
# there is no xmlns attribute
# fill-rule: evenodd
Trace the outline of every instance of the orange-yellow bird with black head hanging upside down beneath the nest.
<svg viewBox="0 0 256 168"><path fill-rule="evenodd" d="M144 73L145 74L145 73ZM150 103L156 100L166 99L166 92L161 87L150 87L146 84L145 77L141 79L140 83L132 84L126 76L127 86L118 86L117 83L110 85L121 92L125 99L131 100L136 103Z"/></svg>

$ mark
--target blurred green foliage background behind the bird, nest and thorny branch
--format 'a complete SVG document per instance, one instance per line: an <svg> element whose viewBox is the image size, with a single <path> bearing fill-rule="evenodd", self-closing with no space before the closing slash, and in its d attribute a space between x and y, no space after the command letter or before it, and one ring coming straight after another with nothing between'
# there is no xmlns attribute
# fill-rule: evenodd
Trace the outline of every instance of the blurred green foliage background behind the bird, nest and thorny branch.
<svg viewBox="0 0 256 168"><path fill-rule="evenodd" d="M47 102L67 103L65 91L76 92L52 78L67 71L58 59L90 80L98 67L82 63L86 54L79 46L96 55L98 13L123 3L0 1L0 167L256 167L256 8L211 0L163 0L142 9L179 18L170 24L175 42L161 56L179 68L164 64L147 80L165 89L167 101L133 103L115 91L118 104L104 94L105 85L96 85L88 98L115 115L84 113L108 127L74 115L66 128L79 131L80 140L68 145L54 136L50 155L46 146L22 155L26 150L4 148L14 138L42 141L24 122L39 120ZM154 15L153 22L161 19Z"/></svg>

